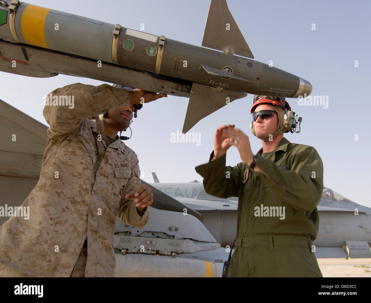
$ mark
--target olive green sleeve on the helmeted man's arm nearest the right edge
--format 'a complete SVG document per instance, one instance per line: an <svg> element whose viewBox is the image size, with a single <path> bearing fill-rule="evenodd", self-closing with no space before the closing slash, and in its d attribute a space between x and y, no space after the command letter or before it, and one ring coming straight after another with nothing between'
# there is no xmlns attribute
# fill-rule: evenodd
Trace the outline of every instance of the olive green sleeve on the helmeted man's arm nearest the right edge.
<svg viewBox="0 0 371 303"><path fill-rule="evenodd" d="M291 161L291 169L286 170L280 169L273 161L260 156L257 158L256 165L267 175L262 172L256 174L293 208L311 212L322 196L321 157L315 148L301 145Z"/></svg>

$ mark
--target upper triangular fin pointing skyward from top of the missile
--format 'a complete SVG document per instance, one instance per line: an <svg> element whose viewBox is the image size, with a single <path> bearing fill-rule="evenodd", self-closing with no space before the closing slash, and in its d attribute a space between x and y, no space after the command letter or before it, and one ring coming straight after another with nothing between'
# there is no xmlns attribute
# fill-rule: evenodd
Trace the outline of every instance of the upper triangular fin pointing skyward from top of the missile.
<svg viewBox="0 0 371 303"><path fill-rule="evenodd" d="M221 50L228 55L254 58L228 9L226 0L211 0L201 45Z"/></svg>

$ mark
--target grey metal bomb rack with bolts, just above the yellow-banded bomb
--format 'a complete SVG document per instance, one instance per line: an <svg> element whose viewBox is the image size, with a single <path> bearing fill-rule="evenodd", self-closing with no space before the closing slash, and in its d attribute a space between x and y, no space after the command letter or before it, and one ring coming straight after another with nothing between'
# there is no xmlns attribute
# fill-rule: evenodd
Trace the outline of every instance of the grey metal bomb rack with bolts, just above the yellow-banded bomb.
<svg viewBox="0 0 371 303"><path fill-rule="evenodd" d="M174 255L213 250L219 243L195 242L188 239L162 239L142 236L115 235L114 249L122 253L145 253L150 255Z"/></svg>

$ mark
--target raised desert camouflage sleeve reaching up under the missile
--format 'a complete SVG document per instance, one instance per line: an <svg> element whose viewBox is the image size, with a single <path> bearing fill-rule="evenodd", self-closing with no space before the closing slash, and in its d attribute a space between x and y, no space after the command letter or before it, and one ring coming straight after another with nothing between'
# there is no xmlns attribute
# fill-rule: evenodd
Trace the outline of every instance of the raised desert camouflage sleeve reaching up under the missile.
<svg viewBox="0 0 371 303"><path fill-rule="evenodd" d="M123 88L75 83L52 91L45 96L44 103L43 115L53 136L71 132L81 119L128 105L130 98L128 90Z"/></svg>

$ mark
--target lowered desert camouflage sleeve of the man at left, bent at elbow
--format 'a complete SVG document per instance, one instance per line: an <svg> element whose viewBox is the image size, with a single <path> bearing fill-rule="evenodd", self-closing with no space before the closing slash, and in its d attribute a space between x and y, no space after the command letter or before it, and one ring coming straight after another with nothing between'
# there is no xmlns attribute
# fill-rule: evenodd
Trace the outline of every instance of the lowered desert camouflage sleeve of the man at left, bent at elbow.
<svg viewBox="0 0 371 303"><path fill-rule="evenodd" d="M128 183L126 184L124 191L122 192L118 211L118 217L120 218L122 223L134 226L136 228L142 228L144 225L147 224L149 219L148 208L145 209L142 216L139 216L134 201L125 199L125 196L129 192L136 191L138 187L141 186L139 176L140 171L137 159L137 162L135 162L134 164L134 169L131 172L131 176L128 180Z"/></svg>

